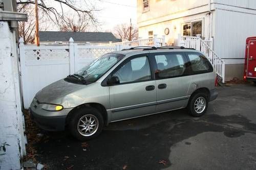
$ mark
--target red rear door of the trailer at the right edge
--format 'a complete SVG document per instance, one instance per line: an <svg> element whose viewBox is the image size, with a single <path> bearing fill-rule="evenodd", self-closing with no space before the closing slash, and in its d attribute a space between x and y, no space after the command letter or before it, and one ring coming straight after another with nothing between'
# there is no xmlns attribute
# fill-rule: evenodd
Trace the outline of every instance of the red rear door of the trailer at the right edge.
<svg viewBox="0 0 256 170"><path fill-rule="evenodd" d="M247 77L256 78L256 41L249 41L247 56Z"/></svg>

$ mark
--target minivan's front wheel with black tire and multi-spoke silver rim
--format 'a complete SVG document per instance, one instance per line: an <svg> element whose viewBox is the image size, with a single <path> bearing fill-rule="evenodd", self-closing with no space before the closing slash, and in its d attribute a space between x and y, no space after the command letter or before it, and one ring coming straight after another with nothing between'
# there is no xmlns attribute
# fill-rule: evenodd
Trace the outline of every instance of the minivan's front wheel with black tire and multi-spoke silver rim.
<svg viewBox="0 0 256 170"><path fill-rule="evenodd" d="M101 133L104 120L97 109L84 107L73 114L69 122L69 131L76 139L84 141Z"/></svg>

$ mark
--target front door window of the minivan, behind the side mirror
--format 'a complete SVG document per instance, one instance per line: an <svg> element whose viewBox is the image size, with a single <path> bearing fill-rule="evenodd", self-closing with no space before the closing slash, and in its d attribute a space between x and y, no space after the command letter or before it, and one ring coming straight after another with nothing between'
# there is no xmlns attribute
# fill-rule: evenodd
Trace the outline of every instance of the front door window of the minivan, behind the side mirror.
<svg viewBox="0 0 256 170"><path fill-rule="evenodd" d="M138 82L151 79L150 63L148 58L134 58L119 68L113 76L119 78L120 83Z"/></svg>

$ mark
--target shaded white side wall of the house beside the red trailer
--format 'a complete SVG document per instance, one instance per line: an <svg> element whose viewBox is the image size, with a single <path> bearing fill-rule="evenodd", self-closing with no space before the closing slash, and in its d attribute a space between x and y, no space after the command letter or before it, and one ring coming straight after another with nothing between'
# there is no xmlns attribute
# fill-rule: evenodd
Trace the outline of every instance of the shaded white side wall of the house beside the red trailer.
<svg viewBox="0 0 256 170"><path fill-rule="evenodd" d="M216 10L215 51L226 64L242 64L246 38L256 36L256 13Z"/></svg>

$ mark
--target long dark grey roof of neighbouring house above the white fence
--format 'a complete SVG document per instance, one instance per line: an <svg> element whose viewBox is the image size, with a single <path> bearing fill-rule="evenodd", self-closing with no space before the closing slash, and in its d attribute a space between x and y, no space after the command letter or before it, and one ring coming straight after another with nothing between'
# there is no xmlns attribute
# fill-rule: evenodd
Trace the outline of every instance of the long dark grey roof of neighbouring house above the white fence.
<svg viewBox="0 0 256 170"><path fill-rule="evenodd" d="M40 41L120 42L112 33L39 31Z"/></svg>

